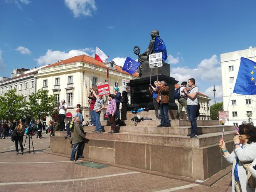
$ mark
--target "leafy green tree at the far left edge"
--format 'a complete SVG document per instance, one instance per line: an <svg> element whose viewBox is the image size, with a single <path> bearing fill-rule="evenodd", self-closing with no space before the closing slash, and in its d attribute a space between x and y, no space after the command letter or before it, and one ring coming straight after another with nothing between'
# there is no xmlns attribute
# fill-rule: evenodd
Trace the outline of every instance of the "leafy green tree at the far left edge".
<svg viewBox="0 0 256 192"><path fill-rule="evenodd" d="M15 94L16 89L8 90L0 96L0 118L5 120L23 119L25 117L26 102L23 95Z"/></svg>

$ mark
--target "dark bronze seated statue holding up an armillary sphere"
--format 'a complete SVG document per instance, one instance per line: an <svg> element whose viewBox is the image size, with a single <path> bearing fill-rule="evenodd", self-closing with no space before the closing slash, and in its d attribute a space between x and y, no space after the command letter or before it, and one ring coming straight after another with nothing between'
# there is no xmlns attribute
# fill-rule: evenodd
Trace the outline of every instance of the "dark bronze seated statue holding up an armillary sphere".
<svg viewBox="0 0 256 192"><path fill-rule="evenodd" d="M155 44L155 37L156 36L160 37L158 30L152 30L150 35L151 35L152 39L149 42L148 49L144 53L140 54L140 48L138 46L135 46L134 49L133 49L133 52L136 55L138 55L138 61L141 63L141 65L138 67L138 71L140 73L140 76L141 76L141 73L142 73L142 63L143 62L148 62L148 55L153 54L153 49L154 49L154 44Z"/></svg>

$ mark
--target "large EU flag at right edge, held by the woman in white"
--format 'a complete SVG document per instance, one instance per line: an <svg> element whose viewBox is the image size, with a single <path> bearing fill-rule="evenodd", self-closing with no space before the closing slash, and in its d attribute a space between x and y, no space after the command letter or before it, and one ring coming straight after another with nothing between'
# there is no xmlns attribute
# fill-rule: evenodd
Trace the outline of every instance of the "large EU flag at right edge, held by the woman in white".
<svg viewBox="0 0 256 192"><path fill-rule="evenodd" d="M242 95L256 94L256 62L241 57L233 93Z"/></svg>

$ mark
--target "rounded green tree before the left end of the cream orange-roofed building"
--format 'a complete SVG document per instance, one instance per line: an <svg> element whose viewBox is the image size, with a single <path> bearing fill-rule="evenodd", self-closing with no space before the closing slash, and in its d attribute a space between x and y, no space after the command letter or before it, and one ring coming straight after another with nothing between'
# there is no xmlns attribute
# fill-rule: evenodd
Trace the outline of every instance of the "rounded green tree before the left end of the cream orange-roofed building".
<svg viewBox="0 0 256 192"><path fill-rule="evenodd" d="M29 96L29 111L34 119L41 120L52 116L56 111L56 101L53 95L48 95L46 90L39 89L37 93Z"/></svg>

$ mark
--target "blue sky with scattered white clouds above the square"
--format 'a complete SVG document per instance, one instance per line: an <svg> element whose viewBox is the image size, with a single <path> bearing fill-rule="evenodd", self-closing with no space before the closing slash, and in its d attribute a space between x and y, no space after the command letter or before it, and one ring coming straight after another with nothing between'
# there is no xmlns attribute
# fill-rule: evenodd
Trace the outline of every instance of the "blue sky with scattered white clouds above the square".
<svg viewBox="0 0 256 192"><path fill-rule="evenodd" d="M255 47L255 0L0 0L0 76L86 54L123 66L159 30L171 76L222 101L220 54Z"/></svg>

